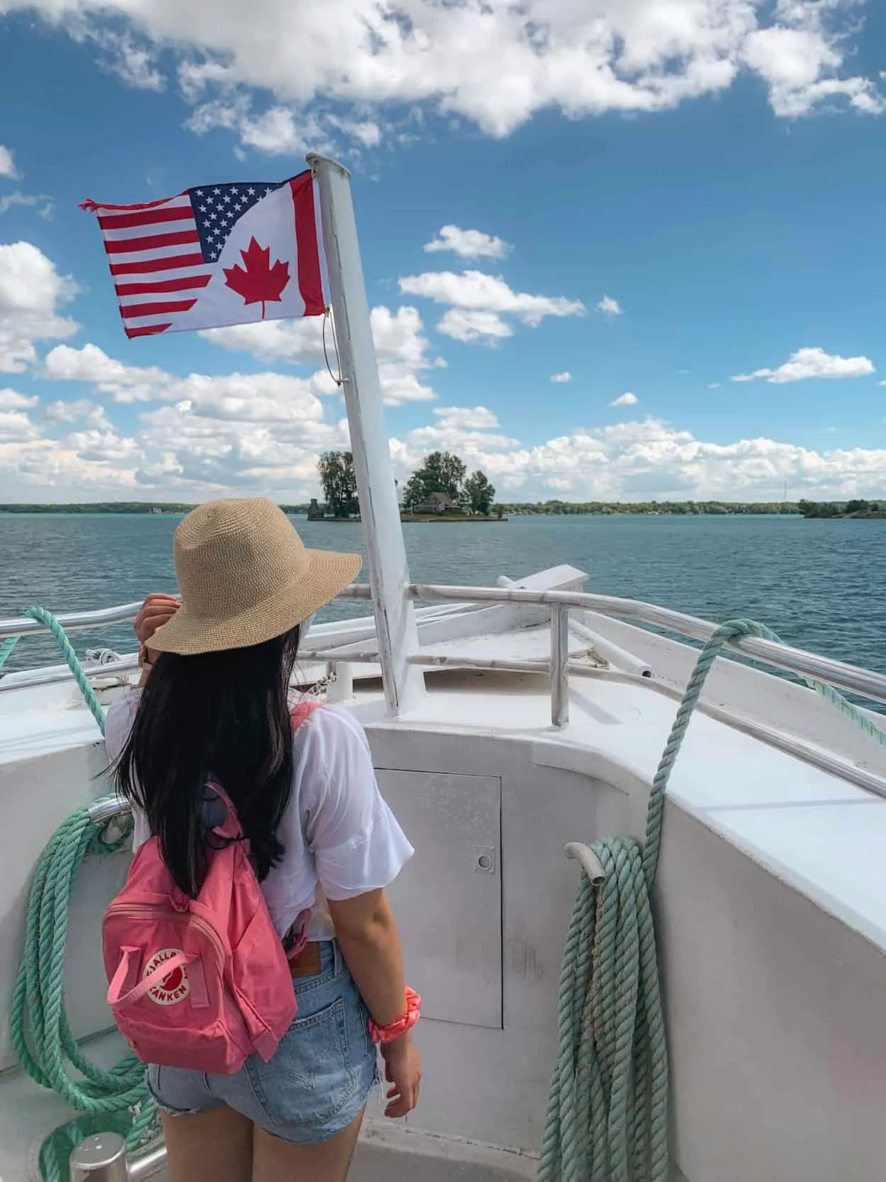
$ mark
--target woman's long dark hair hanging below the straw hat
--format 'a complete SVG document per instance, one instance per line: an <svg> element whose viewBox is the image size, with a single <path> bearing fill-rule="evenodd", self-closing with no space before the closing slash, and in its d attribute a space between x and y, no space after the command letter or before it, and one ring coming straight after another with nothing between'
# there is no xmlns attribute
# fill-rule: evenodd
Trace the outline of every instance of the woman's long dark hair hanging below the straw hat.
<svg viewBox="0 0 886 1182"><path fill-rule="evenodd" d="M210 780L237 811L260 881L284 855L276 830L292 794L287 691L298 645L297 626L245 649L155 658L113 779L144 811L172 878L191 898L206 877Z"/></svg>

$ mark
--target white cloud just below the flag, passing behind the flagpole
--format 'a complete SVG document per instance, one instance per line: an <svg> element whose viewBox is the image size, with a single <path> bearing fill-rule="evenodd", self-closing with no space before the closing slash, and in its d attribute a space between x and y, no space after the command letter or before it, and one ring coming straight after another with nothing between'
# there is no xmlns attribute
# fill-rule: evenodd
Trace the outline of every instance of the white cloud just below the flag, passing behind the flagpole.
<svg viewBox="0 0 886 1182"><path fill-rule="evenodd" d="M426 402L436 397L434 389L418 378L418 374L442 368L445 363L428 355L429 342L417 310L409 306L392 312L379 305L370 313L372 338L376 344L382 395L389 407L403 402ZM323 323L319 317L300 320L265 320L242 324L232 329L210 329L201 333L226 349L241 349L261 361L285 361L298 365L324 366ZM335 372L335 350L332 332L326 333L330 364ZM326 375L328 378L328 375ZM318 379L319 381L319 379ZM318 394L334 394L338 388L328 384Z"/></svg>

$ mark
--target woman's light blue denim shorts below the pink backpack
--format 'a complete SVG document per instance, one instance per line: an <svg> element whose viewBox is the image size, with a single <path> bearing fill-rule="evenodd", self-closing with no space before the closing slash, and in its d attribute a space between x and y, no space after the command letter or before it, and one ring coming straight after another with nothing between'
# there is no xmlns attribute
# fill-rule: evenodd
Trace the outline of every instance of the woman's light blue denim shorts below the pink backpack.
<svg viewBox="0 0 886 1182"><path fill-rule="evenodd" d="M332 940L320 943L320 972L293 986L299 1012L269 1063L253 1054L234 1076L150 1066L161 1109L183 1115L227 1104L294 1145L346 1129L378 1082L369 1011Z"/></svg>

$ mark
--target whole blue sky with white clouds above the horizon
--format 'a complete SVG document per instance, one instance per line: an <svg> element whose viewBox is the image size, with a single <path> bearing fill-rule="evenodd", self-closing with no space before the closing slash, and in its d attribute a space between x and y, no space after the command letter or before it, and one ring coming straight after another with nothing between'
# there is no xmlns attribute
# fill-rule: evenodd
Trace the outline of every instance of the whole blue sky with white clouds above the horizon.
<svg viewBox="0 0 886 1182"><path fill-rule="evenodd" d="M0 0L0 500L317 492L317 322L128 342L78 209L311 148L353 173L398 475L886 495L882 6L297 7Z"/></svg>

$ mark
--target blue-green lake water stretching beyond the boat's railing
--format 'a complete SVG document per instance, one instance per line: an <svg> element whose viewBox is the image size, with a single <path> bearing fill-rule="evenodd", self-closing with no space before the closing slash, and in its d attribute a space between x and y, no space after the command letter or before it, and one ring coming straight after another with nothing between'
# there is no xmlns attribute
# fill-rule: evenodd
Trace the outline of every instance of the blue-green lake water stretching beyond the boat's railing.
<svg viewBox="0 0 886 1182"><path fill-rule="evenodd" d="M174 591L177 517L0 514L0 617L56 612ZM294 519L306 545L364 553L359 525ZM504 524L405 525L418 582L494 584L559 563L587 589L712 621L762 621L790 644L886 673L886 521L796 517L522 517ZM365 572L361 576L365 578ZM363 615L333 604L320 618ZM78 651L132 648L129 625L74 634ZM58 660L26 638L7 669Z"/></svg>

